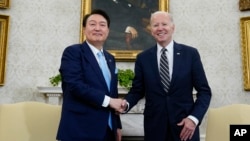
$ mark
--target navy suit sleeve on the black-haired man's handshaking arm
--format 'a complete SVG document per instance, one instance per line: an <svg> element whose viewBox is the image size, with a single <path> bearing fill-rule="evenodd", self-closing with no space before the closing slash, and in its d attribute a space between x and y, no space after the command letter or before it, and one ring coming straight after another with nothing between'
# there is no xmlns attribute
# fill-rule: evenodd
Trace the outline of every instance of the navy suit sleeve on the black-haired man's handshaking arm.
<svg viewBox="0 0 250 141"><path fill-rule="evenodd" d="M105 93L99 91L84 80L84 64L80 46L70 46L65 49L61 59L60 73L62 75L62 88L64 96L72 94L77 99L95 106L102 106ZM94 78L93 78L94 79Z"/></svg>

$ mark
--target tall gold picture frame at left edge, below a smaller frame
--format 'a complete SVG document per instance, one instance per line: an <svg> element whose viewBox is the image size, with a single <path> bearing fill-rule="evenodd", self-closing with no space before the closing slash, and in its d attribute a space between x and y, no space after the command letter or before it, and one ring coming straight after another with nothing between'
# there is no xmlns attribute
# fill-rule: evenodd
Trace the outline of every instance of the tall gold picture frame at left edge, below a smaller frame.
<svg viewBox="0 0 250 141"><path fill-rule="evenodd" d="M9 32L9 16L0 15L0 85L4 85L5 62Z"/></svg>

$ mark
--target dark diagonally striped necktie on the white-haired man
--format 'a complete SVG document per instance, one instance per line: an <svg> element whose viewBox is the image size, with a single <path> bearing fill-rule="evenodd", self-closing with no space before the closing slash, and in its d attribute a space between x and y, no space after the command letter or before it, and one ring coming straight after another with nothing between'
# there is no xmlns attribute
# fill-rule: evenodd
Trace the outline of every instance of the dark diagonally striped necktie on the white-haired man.
<svg viewBox="0 0 250 141"><path fill-rule="evenodd" d="M170 85L170 76L169 76L169 65L168 58L166 56L166 48L161 50L161 58L160 58L160 77L161 83L163 84L164 90L168 92Z"/></svg>

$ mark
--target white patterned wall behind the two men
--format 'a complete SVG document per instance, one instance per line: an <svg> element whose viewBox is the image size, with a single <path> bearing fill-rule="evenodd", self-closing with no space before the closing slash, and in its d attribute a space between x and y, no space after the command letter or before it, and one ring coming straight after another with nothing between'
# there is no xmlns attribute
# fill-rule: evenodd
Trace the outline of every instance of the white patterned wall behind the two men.
<svg viewBox="0 0 250 141"><path fill-rule="evenodd" d="M37 86L48 86L63 49L79 42L80 0L12 0L5 85L0 103L44 101ZM199 49L213 97L211 107L250 103L243 89L238 0L170 0L175 41ZM133 63L118 62L120 68ZM202 132L206 118L202 124Z"/></svg>

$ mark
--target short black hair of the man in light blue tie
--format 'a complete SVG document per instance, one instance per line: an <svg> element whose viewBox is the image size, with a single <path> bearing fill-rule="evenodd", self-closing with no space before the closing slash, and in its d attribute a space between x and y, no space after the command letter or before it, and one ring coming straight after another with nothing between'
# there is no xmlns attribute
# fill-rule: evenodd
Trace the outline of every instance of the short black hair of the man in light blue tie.
<svg viewBox="0 0 250 141"><path fill-rule="evenodd" d="M98 15L103 16L107 20L108 27L109 27L109 25L110 25L110 18L108 16L108 14L105 11L101 10L101 9L94 9L94 10L91 11L91 13L86 14L83 17L83 20L82 20L83 27L86 27L87 20L88 20L89 16L94 15L94 14L98 14Z"/></svg>

